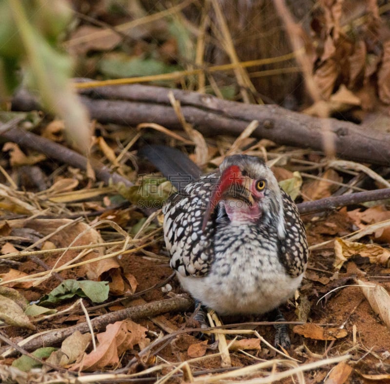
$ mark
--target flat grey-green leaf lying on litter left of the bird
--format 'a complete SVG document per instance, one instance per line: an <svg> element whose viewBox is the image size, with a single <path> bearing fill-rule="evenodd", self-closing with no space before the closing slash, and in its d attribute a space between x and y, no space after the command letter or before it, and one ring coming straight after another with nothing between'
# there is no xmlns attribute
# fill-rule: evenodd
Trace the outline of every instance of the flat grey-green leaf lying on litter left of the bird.
<svg viewBox="0 0 390 384"><path fill-rule="evenodd" d="M40 299L39 304L58 303L61 300L70 299L74 296L87 297L92 302L100 303L108 298L108 281L91 280L64 280L57 288Z"/></svg>

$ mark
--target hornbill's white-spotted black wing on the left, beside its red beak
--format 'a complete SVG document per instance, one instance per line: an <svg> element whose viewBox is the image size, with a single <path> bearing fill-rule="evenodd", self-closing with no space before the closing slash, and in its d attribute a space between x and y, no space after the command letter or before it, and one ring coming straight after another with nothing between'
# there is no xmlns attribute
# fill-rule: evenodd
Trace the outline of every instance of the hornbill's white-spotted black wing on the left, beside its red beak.
<svg viewBox="0 0 390 384"><path fill-rule="evenodd" d="M202 224L219 178L219 174L210 174L188 184L163 208L164 239L171 255L171 267L182 276L207 275L214 259L214 213L205 231Z"/></svg>

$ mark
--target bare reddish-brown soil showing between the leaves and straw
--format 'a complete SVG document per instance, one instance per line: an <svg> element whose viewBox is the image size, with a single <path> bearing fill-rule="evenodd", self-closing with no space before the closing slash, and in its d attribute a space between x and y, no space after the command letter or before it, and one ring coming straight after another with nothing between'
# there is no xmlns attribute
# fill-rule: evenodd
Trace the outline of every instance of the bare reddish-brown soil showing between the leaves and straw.
<svg viewBox="0 0 390 384"><path fill-rule="evenodd" d="M309 245L319 244L327 240L331 240L334 236L345 235L351 232L352 223L348 220L346 213L333 212L320 215L304 216L305 225L308 232ZM149 248L150 251L159 253L164 256L164 247L161 240ZM55 258L47 258L45 262L48 265L54 264ZM370 264L368 258L355 257L345 263L339 273L335 273L332 266L334 261L333 244L325 244L311 252L309 259L309 267L306 272L306 277L303 279L300 289L300 296L294 301L284 305L282 312L286 320L297 321L299 319L298 310L296 307L302 307L303 302L306 302L307 321L309 323L323 324L324 327L343 328L347 331L347 335L338 340L316 340L315 338L303 337L293 332L291 326L291 341L292 347L288 351L290 356L301 364L307 364L325 359L328 357L342 356L347 353L351 355L350 365L353 371L347 383L360 383L365 379L361 374L380 375L386 374L390 367L390 332L388 327L382 320L373 312L369 302L364 297L360 288L354 286L354 278L364 277L371 281L380 282L387 290L390 289L388 278L389 270L379 267L375 264ZM123 268L123 274L131 273L137 278L137 292L153 287L165 279L167 279L172 271L168 265L168 258L153 259L153 257L142 254L134 254L121 257L119 261ZM1 267L0 272L6 271L7 268ZM20 270L26 273L37 272L37 266L32 261L25 260L20 266ZM61 272L62 278L77 278L75 271ZM172 286L172 291L169 293L162 292L161 288L156 288L140 298L129 301L124 300L121 304L116 304L108 308L92 311L90 316L96 316L107 313L112 310L123 308L124 306L139 305L144 302L152 302L156 300L172 297L176 293L181 293L181 288L173 278L169 281ZM24 297L28 300L39 299L42 294L47 293L52 288L58 285L55 278L46 280L37 288L29 290L20 290ZM335 289L336 288L336 289ZM333 292L332 289L335 289ZM331 292L331 294L329 294ZM326 295L326 296L325 296ZM325 296L325 297L324 297ZM61 303L57 309L66 308L69 303ZM194 326L190 320L191 310L186 313L167 313L158 316L156 319L141 320L140 324L145 326L155 335L160 332L174 332L181 328ZM268 320L262 317L240 317L240 318L223 318L224 324L236 322L254 322ZM62 326L72 325L82 321L82 315L79 312L74 312L66 316L59 316L55 320L40 322L39 331L53 329ZM274 329L272 325L257 325L250 327L270 343L273 342ZM7 334L9 337L20 338L27 337L30 331L20 331L16 327L8 327ZM228 341L236 335L228 335ZM242 337L238 335L238 339ZM193 375L204 372L215 373L221 370L221 358L211 356L217 352L216 345L208 337L203 337L202 340L207 340L209 347L204 353L201 360L196 363L190 363ZM169 362L180 363L189 361L192 357L188 351L192 345L199 343L200 339L196 337L196 333L191 332L180 334L166 345L163 345L159 350L155 350L153 359L149 358L145 363L137 367L138 370L147 369L154 364ZM132 358L134 352L127 352L122 358L122 365ZM209 358L207 356L210 356ZM262 348L257 350L246 350L245 352L235 351L230 354L233 367L244 367L257 363L262 360L272 360L279 358L277 353L271 350L267 345L262 343ZM11 363L12 359L6 359L4 363ZM334 365L324 366L305 372L305 380L307 383L322 383L329 374L330 369ZM160 374L164 375L169 372L169 369L162 368ZM256 376L256 375L255 375ZM180 383L183 378L177 376L171 378L169 382ZM283 383L291 383L291 378L286 378ZM341 383L341 381L339 381Z"/></svg>

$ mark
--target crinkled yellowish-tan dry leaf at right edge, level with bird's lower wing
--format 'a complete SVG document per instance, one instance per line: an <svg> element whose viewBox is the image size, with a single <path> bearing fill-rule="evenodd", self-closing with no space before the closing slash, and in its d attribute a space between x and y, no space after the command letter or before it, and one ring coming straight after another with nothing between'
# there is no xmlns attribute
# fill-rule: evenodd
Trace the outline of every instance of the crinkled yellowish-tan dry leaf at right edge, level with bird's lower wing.
<svg viewBox="0 0 390 384"><path fill-rule="evenodd" d="M377 244L363 244L336 238L334 240L334 252L336 258L333 267L336 269L340 269L344 262L354 255L369 257L370 263L372 264L384 264L389 266L390 251Z"/></svg>

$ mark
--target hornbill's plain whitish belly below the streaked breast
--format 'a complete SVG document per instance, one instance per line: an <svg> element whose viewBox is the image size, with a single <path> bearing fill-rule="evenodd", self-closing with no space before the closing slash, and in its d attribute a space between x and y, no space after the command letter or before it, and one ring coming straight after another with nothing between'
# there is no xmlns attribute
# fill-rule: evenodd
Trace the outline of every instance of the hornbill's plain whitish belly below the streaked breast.
<svg viewBox="0 0 390 384"><path fill-rule="evenodd" d="M177 274L182 287L221 315L263 314L292 297L302 276L291 277L277 257L217 260L204 277Z"/></svg>

